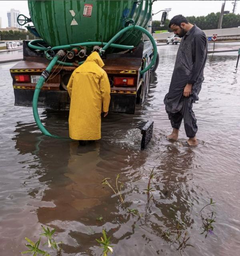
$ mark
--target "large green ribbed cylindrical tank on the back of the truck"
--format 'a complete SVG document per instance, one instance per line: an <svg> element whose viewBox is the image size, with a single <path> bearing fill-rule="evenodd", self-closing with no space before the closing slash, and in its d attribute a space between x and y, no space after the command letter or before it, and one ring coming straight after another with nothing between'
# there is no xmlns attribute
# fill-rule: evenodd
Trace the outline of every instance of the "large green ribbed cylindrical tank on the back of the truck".
<svg viewBox="0 0 240 256"><path fill-rule="evenodd" d="M108 42L127 19L146 28L152 15L152 1L145 0L28 0L28 8L36 32L51 47ZM137 46L141 38L142 32L128 31L116 44Z"/></svg>

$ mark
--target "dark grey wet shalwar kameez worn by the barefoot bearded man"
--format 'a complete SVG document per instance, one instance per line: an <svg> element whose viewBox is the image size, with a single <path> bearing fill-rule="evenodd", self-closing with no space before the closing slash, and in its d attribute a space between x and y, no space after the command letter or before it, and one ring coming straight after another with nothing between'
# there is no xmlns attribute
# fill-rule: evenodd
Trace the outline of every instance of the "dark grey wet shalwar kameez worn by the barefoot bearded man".
<svg viewBox="0 0 240 256"><path fill-rule="evenodd" d="M182 38L169 91L164 98L164 104L172 128L179 129L182 119L186 135L193 138L198 126L192 103L198 100L198 94L204 80L203 70L207 57L206 35L194 25ZM184 87L192 84L192 93L184 97Z"/></svg>

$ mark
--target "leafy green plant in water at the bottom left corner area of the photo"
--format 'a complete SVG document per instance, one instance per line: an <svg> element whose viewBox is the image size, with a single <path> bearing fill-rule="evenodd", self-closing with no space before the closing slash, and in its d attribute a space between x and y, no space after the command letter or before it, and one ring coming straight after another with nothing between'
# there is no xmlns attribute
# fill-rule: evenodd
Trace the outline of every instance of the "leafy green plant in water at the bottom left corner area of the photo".
<svg viewBox="0 0 240 256"><path fill-rule="evenodd" d="M44 226L42 226L42 229L44 233L40 234L40 236L46 236L46 238L48 239L48 242L44 243L43 245L48 244L48 248L52 248L52 250L56 250L56 256L61 256L62 247L59 247L58 244L61 244L62 242L56 243L54 238L52 237L55 233L55 229L50 230L48 227L44 228ZM29 254L32 254L33 256L37 256L38 254L44 255L44 256L50 256L48 252L39 249L41 238L39 238L39 240L36 243L34 243L32 240L30 240L27 237L25 237L25 240L29 243L29 244L25 244L29 248L29 250L21 252L22 254L29 253Z"/></svg>

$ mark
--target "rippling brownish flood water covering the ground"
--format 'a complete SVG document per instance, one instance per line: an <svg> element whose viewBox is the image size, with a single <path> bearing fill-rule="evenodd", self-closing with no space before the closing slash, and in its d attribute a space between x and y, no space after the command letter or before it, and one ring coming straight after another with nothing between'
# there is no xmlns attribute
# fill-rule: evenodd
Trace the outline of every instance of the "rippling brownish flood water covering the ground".
<svg viewBox="0 0 240 256"><path fill-rule="evenodd" d="M148 101L135 115L110 113L102 122L102 139L85 147L43 136L32 109L14 106L9 72L14 63L0 66L1 256L27 250L24 238L37 241L41 225L56 228L54 238L68 256L100 256L95 239L103 229L111 236L114 256L240 254L237 54L208 55L200 100L193 107L199 145L188 147L183 126L178 142L166 139L172 128L163 99L177 49L158 47L160 64L151 75ZM68 135L68 112L40 109L39 114L52 134ZM154 120L146 150L140 150L136 128L141 120ZM152 170L154 198L148 202ZM110 178L115 189L117 174L124 204L101 184ZM206 206L201 217L210 198L215 204ZM138 210L140 217L128 209ZM202 218L211 217L213 232L204 232Z"/></svg>

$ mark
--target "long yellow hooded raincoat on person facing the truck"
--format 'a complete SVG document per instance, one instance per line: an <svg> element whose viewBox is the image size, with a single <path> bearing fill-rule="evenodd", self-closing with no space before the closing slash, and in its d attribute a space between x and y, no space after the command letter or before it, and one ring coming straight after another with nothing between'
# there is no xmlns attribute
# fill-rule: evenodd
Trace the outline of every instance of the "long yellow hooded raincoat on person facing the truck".
<svg viewBox="0 0 240 256"><path fill-rule="evenodd" d="M67 85L71 98L69 136L74 140L101 138L101 112L108 112L110 83L97 52L76 68Z"/></svg>

